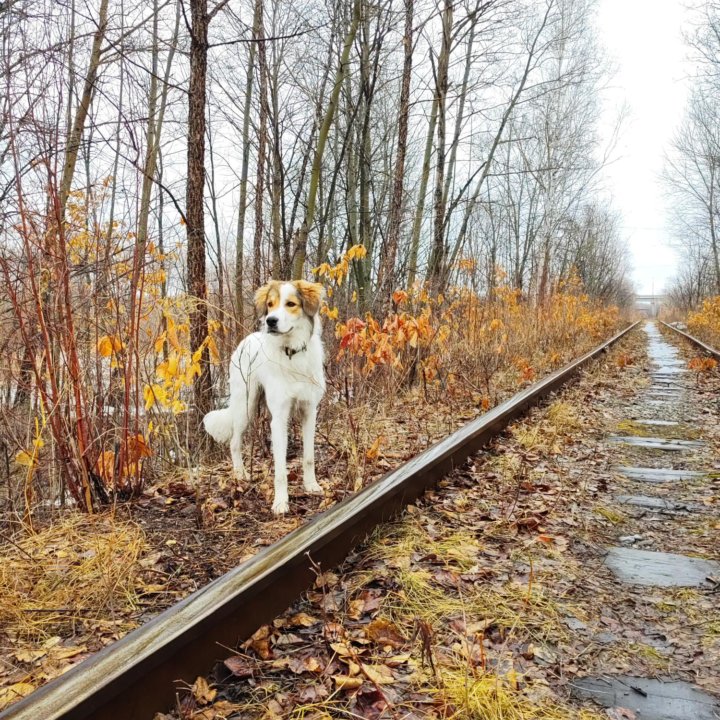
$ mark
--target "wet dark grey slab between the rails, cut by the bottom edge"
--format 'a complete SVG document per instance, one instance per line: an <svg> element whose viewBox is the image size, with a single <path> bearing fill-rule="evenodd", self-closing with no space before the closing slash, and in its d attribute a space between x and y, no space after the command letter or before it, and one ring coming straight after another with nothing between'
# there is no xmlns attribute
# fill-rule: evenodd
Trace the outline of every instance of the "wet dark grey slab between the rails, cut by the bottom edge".
<svg viewBox="0 0 720 720"><path fill-rule="evenodd" d="M637 720L716 720L718 699L685 682L654 678L581 678L571 683L575 697L593 700L605 708L621 707Z"/></svg>

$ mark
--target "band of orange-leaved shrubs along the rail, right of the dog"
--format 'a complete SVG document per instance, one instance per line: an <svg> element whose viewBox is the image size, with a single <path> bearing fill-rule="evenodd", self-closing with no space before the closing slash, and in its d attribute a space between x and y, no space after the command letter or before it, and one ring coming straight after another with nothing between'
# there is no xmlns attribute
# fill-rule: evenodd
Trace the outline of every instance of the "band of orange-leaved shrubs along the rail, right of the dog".
<svg viewBox="0 0 720 720"><path fill-rule="evenodd" d="M362 377L380 373L392 387L422 379L448 387L461 379L484 388L486 409L494 376L514 368L516 384L533 382L547 368L575 357L578 348L607 337L619 322L617 308L592 302L577 279L559 285L534 305L499 277L490 297L466 288L431 297L423 286L396 290L393 311L335 324L336 360ZM324 313L337 315L337 308ZM357 379L357 378L356 378Z"/></svg>

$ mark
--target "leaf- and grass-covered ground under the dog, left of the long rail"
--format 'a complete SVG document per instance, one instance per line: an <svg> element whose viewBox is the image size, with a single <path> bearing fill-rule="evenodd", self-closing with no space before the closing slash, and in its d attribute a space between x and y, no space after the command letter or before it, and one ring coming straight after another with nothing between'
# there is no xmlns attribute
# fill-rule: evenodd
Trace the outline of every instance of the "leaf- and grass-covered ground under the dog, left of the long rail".
<svg viewBox="0 0 720 720"><path fill-rule="evenodd" d="M592 334L583 337L585 345L597 341ZM539 353L533 366L538 373L549 372L569 360L573 349ZM513 366L498 368L492 402L529 382L519 379ZM224 460L166 473L139 499L91 517L54 509L38 512L32 527L8 523L9 534L0 534L5 583L0 586L0 709L425 450L484 412L488 403L482 393L468 394L462 382L437 380L398 394L369 392L363 400L324 404L316 464L326 496L307 496L300 489L299 429L293 427L291 513L283 518L270 512L268 420L261 416L249 437L252 479L247 484L229 480L231 467ZM49 660L29 659L38 653L47 657L43 645L52 638L63 648L82 651L63 658L56 650L52 668L42 667Z"/></svg>

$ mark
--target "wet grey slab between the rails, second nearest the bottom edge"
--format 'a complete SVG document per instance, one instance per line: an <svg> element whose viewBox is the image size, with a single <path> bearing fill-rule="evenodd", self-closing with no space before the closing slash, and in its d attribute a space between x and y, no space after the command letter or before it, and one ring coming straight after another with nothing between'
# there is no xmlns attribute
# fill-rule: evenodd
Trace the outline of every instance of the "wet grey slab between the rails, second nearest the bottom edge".
<svg viewBox="0 0 720 720"><path fill-rule="evenodd" d="M605 565L631 585L713 587L720 578L720 563L712 560L626 547L610 548Z"/></svg>

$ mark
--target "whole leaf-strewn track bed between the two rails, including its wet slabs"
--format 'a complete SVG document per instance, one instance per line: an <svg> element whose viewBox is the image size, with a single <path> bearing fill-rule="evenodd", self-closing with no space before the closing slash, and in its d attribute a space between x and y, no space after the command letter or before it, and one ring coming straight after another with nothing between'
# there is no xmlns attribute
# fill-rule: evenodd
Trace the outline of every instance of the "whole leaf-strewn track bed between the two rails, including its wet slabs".
<svg viewBox="0 0 720 720"><path fill-rule="evenodd" d="M718 381L691 356L633 333L319 569L178 715L720 717Z"/></svg>

